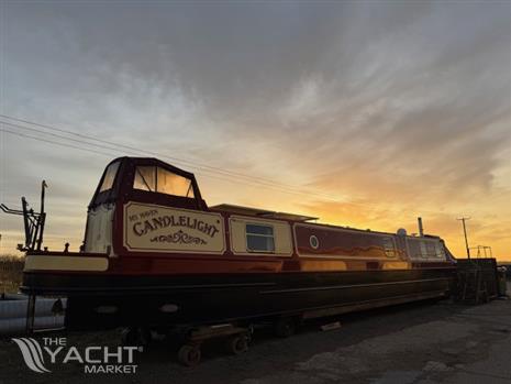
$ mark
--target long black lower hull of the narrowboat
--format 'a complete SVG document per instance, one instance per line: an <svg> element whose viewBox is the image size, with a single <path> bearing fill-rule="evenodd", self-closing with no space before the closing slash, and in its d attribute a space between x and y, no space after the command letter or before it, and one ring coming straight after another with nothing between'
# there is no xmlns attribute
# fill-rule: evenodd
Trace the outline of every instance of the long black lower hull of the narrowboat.
<svg viewBox="0 0 511 384"><path fill-rule="evenodd" d="M314 317L448 294L452 267L198 275L25 273L22 290L68 297L68 329Z"/></svg>

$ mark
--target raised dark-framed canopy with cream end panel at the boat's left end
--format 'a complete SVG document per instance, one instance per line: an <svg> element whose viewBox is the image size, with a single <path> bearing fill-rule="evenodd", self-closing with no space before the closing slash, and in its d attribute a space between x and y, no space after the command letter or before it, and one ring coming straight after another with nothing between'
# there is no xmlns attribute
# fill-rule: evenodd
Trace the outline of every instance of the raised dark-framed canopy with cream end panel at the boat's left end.
<svg viewBox="0 0 511 384"><path fill-rule="evenodd" d="M119 157L104 169L89 204L82 251L114 251L122 237L121 213L130 201L208 211L193 174L157 158Z"/></svg>

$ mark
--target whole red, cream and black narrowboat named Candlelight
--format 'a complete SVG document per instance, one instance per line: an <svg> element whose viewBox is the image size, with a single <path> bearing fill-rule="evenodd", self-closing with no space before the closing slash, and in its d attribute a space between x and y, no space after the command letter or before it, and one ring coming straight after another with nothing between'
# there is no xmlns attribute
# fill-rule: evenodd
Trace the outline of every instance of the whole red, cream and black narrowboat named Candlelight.
<svg viewBox="0 0 511 384"><path fill-rule="evenodd" d="M209 207L193 174L120 157L80 251L30 248L21 290L67 297L69 329L308 318L448 294L455 259L441 238L315 220Z"/></svg>

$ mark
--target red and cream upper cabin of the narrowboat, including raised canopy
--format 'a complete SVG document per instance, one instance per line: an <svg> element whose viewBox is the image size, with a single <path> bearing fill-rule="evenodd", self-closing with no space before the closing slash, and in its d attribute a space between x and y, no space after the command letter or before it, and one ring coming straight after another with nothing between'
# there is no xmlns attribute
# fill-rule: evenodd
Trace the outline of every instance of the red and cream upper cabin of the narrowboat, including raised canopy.
<svg viewBox="0 0 511 384"><path fill-rule="evenodd" d="M302 270L408 268L410 261L447 257L437 237L318 224L316 219L234 205L208 207L193 174L157 158L121 157L107 166L90 201L82 251L274 257L278 263L270 270L284 268L282 260L292 256L300 257Z"/></svg>

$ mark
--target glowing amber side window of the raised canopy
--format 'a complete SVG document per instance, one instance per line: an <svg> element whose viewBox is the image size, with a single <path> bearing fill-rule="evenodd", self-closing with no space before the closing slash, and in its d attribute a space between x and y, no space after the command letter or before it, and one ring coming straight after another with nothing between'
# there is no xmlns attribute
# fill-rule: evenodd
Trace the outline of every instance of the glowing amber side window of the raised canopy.
<svg viewBox="0 0 511 384"><path fill-rule="evenodd" d="M133 188L193 198L193 186L189 178L156 166L137 166Z"/></svg>

